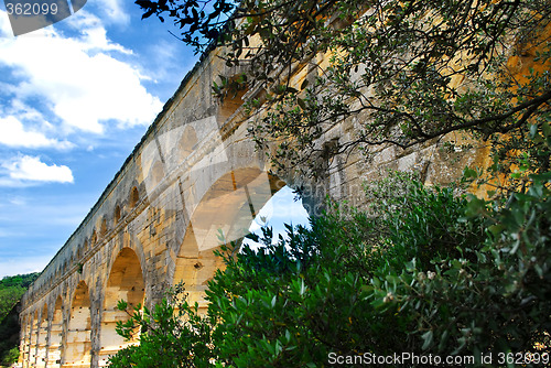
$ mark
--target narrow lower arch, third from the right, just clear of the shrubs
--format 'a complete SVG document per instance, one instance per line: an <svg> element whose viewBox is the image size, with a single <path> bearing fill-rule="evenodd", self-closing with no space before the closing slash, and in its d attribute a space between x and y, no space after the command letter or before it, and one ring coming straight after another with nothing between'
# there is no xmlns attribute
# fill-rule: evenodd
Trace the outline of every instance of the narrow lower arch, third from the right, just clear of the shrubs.
<svg viewBox="0 0 551 368"><path fill-rule="evenodd" d="M88 286L80 281L71 304L64 367L89 367L91 350L90 295Z"/></svg>

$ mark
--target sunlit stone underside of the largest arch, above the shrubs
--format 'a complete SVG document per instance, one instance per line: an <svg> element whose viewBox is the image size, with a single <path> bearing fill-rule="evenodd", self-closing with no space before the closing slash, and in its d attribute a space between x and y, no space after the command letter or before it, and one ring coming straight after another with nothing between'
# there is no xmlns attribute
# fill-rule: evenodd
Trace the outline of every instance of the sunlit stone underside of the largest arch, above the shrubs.
<svg viewBox="0 0 551 368"><path fill-rule="evenodd" d="M190 302L204 312L207 281L223 268L213 250L224 242L240 242L251 221L270 197L285 183L256 167L231 171L220 176L195 207L180 247L173 283L185 283Z"/></svg>

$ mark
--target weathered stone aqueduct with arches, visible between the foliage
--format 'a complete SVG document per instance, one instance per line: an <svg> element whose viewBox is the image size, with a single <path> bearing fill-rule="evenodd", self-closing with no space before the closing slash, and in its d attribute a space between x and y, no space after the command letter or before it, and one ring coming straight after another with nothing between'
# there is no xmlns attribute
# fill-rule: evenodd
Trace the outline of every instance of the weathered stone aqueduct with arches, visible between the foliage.
<svg viewBox="0 0 551 368"><path fill-rule="evenodd" d="M184 281L192 302L205 306L206 282L222 267L213 256L242 237L264 203L283 185L307 184L268 174L264 154L247 138L241 96L223 105L210 93L230 75L214 51L182 82L114 181L23 296L20 365L102 367L129 343L115 332L119 300L153 305L168 286ZM298 83L306 67L295 71ZM249 90L244 99L253 96ZM325 133L321 144L346 142L355 120ZM385 167L421 170L428 182L446 182L479 154L454 156L437 143L401 151L380 148L374 162L333 160L320 192L306 196L361 198L361 182ZM455 160L455 163L452 163ZM457 169L457 170L455 170ZM445 173L445 174L442 174ZM310 205L310 206L309 206Z"/></svg>

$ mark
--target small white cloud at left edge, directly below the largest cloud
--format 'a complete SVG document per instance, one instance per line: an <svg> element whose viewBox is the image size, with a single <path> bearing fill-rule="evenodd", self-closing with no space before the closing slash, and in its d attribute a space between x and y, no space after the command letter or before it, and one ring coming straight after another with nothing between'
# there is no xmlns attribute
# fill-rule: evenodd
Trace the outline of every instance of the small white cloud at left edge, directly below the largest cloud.
<svg viewBox="0 0 551 368"><path fill-rule="evenodd" d="M74 144L68 141L58 141L46 138L42 132L25 130L23 123L17 118L9 116L0 118L0 144L17 148L56 148L71 149Z"/></svg>

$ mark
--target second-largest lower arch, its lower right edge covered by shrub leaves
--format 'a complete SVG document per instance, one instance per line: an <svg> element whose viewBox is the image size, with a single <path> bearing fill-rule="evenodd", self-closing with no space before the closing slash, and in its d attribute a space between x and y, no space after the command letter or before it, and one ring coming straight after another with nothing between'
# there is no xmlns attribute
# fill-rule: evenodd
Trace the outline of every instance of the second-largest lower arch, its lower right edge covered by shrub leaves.
<svg viewBox="0 0 551 368"><path fill-rule="evenodd" d="M101 315L101 349L99 351L100 367L107 365L107 360L111 355L128 345L137 343L137 339L125 342L115 331L118 321L125 322L129 318L126 312L117 309L117 304L120 300L123 300L128 303L128 307L133 310L138 304L143 304L144 290L140 260L132 249L123 248L112 263L105 290Z"/></svg>

